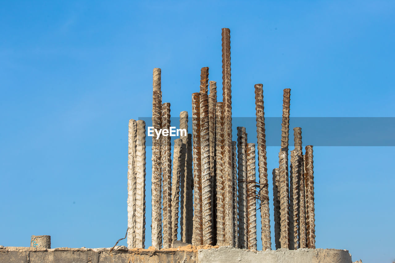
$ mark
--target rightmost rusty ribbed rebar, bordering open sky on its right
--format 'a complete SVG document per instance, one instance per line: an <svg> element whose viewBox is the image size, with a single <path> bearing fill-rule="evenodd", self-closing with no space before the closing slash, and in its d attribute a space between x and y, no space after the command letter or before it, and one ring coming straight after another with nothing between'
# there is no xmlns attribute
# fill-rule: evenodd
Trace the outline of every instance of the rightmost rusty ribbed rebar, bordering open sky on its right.
<svg viewBox="0 0 395 263"><path fill-rule="evenodd" d="M313 171L313 146L307 145L305 161L306 182L306 221L307 221L307 248L316 248L315 219L314 219L314 171Z"/></svg>

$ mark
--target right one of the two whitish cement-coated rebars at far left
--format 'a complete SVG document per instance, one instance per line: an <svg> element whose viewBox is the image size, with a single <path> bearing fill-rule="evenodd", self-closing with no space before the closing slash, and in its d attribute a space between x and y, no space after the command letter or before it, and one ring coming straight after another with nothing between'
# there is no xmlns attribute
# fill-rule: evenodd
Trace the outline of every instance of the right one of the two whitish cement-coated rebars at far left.
<svg viewBox="0 0 395 263"><path fill-rule="evenodd" d="M136 140L136 248L145 248L145 121L137 120Z"/></svg>

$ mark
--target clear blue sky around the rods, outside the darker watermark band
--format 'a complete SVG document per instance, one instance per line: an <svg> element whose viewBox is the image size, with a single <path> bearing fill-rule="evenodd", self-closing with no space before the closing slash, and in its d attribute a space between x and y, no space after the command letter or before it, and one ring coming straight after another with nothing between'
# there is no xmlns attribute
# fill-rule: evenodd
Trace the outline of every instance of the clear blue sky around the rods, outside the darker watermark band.
<svg viewBox="0 0 395 263"><path fill-rule="evenodd" d="M151 116L152 69L162 68L172 116L190 113L201 67L222 94L223 27L231 30L233 116L254 117L254 84L263 83L266 116L281 116L282 90L291 88L293 117L394 117L393 1L1 6L4 246L51 235L52 247L111 247L124 237L128 120ZM279 148L267 149L271 205ZM314 147L317 248L347 249L364 263L395 259L393 150ZM146 247L150 156L148 147Z"/></svg>

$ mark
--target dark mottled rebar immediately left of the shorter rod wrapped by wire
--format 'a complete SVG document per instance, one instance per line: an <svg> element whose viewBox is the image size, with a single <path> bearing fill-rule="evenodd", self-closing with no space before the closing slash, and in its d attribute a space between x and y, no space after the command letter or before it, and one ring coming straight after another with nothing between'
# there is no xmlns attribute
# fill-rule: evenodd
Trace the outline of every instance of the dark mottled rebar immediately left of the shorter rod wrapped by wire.
<svg viewBox="0 0 395 263"><path fill-rule="evenodd" d="M248 247L247 231L247 133L245 127L237 127L237 176L239 206L239 248Z"/></svg>

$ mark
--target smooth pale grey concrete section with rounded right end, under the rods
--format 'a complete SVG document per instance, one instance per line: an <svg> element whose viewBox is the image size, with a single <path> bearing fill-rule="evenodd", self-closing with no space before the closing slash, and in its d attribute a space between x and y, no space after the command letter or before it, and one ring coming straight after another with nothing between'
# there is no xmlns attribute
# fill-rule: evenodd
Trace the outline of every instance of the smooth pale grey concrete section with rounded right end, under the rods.
<svg viewBox="0 0 395 263"><path fill-rule="evenodd" d="M199 250L197 263L352 263L348 250L308 249L252 251L222 246Z"/></svg>

